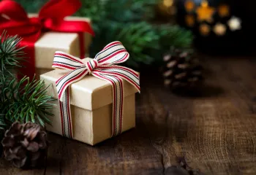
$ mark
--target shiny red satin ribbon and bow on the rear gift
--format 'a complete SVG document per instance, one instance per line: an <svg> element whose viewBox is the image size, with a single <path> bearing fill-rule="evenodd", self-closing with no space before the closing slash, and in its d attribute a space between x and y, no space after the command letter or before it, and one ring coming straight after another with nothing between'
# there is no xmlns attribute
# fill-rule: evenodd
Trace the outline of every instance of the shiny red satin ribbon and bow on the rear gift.
<svg viewBox="0 0 256 175"><path fill-rule="evenodd" d="M50 0L39 11L38 18L29 18L23 7L15 1L0 1L0 32L7 30L8 34L23 37L20 46L27 46L25 52L29 61L24 64L23 74L34 77L35 52L34 44L42 31L59 31L77 33L80 40L80 57L85 55L83 33L94 35L89 23L85 21L64 20L81 7L79 0Z"/></svg>

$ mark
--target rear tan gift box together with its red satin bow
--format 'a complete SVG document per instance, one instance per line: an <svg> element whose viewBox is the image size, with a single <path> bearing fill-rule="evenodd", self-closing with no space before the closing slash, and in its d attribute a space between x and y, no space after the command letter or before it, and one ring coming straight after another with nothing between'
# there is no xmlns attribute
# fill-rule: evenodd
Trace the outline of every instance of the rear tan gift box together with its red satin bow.
<svg viewBox="0 0 256 175"><path fill-rule="evenodd" d="M34 77L51 70L56 50L84 58L89 52L91 28L89 18L68 17L80 8L78 0L50 0L37 14L27 15L25 10L12 0L0 2L0 31L23 38L29 61L23 63L23 74Z"/></svg>

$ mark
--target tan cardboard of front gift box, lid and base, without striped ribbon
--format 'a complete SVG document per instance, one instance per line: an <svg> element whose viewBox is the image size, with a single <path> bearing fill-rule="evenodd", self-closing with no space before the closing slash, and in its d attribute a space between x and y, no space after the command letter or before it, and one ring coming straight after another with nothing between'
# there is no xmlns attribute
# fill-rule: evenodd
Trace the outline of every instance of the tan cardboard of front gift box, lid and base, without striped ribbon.
<svg viewBox="0 0 256 175"><path fill-rule="evenodd" d="M58 98L56 80L67 74L67 71L56 69L40 75L48 86L48 95ZM124 115L122 131L135 127L135 93L138 90L124 80ZM112 123L112 88L109 82L91 75L86 75L71 85L70 104L72 114L73 139L86 144L97 144L111 137ZM51 109L55 115L48 131L62 135L59 101Z"/></svg>

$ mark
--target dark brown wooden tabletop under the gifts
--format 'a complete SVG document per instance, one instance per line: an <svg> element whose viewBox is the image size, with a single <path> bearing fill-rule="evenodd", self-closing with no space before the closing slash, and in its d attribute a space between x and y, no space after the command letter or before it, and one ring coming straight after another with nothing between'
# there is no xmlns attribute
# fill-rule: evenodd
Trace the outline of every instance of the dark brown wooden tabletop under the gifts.
<svg viewBox="0 0 256 175"><path fill-rule="evenodd" d="M185 157L204 174L256 174L256 59L204 58L206 85L195 96L163 88L142 72L137 127L95 147L51 133L45 167L1 174L168 174Z"/></svg>

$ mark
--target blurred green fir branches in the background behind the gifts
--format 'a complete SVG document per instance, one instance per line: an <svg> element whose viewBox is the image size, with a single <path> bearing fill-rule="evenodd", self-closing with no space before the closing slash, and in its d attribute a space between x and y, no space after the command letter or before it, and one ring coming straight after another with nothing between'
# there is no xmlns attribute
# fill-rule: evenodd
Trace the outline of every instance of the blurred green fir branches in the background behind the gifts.
<svg viewBox="0 0 256 175"><path fill-rule="evenodd" d="M96 36L91 44L94 56L113 41L127 48L127 66L161 63L162 54L171 46L187 48L192 44L192 33L179 26L150 23L158 0L86 0L76 13L92 19Z"/></svg>

